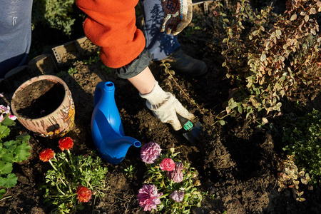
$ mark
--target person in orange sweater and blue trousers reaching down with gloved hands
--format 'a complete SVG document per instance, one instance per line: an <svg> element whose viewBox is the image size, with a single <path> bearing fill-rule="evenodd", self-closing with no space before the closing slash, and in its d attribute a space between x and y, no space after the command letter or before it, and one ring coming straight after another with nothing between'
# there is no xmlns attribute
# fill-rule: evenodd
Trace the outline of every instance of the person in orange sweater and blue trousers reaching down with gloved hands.
<svg viewBox="0 0 321 214"><path fill-rule="evenodd" d="M192 1L142 0L140 3L145 21L143 32L136 27L138 0L76 0L77 6L88 15L83 24L85 34L93 44L101 46L103 63L116 68L119 77L128 79L137 88L154 116L179 130L182 126L176 113L190 120L194 116L173 94L163 91L148 66L151 60L164 59L175 71L188 76L200 76L208 70L203 61L183 53L176 36L192 19Z"/></svg>

